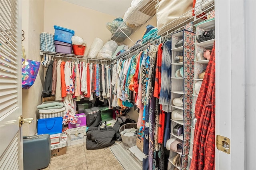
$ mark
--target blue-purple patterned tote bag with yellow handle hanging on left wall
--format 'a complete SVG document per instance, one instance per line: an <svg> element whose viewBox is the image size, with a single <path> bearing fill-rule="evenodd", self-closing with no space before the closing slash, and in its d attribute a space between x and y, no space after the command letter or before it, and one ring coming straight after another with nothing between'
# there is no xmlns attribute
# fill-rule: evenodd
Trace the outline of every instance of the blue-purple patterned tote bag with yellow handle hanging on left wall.
<svg viewBox="0 0 256 170"><path fill-rule="evenodd" d="M22 89L29 89L35 82L40 67L39 61L26 59L25 49L22 45Z"/></svg>

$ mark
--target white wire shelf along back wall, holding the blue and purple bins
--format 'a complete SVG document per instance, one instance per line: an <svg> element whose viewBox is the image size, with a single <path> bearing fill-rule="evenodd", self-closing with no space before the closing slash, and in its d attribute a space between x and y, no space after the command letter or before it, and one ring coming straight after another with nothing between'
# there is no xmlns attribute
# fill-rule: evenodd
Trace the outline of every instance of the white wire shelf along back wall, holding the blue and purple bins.
<svg viewBox="0 0 256 170"><path fill-rule="evenodd" d="M49 52L49 51L40 51L40 55L49 54L55 57L65 57L65 58L79 58L82 59L89 59L89 60L95 60L95 61L111 61L111 59L108 58L101 58L101 57L89 57L84 55L75 55L75 54L66 54L66 53L56 53L56 52Z"/></svg>

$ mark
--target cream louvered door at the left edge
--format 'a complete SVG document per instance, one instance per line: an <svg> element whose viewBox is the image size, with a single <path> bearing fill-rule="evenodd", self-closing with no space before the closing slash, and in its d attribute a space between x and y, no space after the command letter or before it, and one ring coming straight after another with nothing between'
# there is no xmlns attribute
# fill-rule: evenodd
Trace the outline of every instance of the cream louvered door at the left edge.
<svg viewBox="0 0 256 170"><path fill-rule="evenodd" d="M0 170L22 170L19 0L0 0Z"/></svg>

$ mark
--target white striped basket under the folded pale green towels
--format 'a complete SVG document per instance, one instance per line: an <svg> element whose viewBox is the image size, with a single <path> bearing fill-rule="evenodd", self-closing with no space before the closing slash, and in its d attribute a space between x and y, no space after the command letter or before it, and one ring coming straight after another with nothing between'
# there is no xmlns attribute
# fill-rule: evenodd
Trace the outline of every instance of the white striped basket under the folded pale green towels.
<svg viewBox="0 0 256 170"><path fill-rule="evenodd" d="M40 119L52 118L52 117L63 117L65 115L65 107L61 109L48 109L40 110L39 117Z"/></svg>

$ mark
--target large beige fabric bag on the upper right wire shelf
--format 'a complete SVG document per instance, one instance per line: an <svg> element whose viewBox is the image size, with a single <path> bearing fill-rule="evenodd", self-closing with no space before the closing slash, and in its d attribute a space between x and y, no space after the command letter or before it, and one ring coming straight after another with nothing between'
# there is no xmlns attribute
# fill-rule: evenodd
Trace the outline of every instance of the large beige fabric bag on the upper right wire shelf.
<svg viewBox="0 0 256 170"><path fill-rule="evenodd" d="M161 35L162 28L193 8L193 0L161 0L155 8L158 35Z"/></svg>

